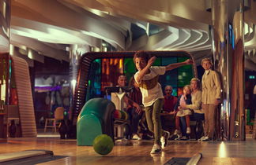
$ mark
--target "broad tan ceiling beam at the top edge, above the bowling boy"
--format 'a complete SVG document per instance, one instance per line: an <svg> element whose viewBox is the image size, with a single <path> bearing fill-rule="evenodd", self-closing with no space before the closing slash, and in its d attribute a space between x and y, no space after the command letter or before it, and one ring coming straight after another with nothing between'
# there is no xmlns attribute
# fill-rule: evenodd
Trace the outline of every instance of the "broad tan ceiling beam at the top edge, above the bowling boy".
<svg viewBox="0 0 256 165"><path fill-rule="evenodd" d="M76 2L81 1L77 0ZM207 31L208 25L211 24L211 13L206 12L205 9L194 9L190 6L191 2L184 0L97 0L97 2L103 4L106 9L112 9L112 11L119 15L129 16L137 20L145 20L155 24L168 24L173 27L200 29L204 31ZM86 6L86 3L84 6Z"/></svg>

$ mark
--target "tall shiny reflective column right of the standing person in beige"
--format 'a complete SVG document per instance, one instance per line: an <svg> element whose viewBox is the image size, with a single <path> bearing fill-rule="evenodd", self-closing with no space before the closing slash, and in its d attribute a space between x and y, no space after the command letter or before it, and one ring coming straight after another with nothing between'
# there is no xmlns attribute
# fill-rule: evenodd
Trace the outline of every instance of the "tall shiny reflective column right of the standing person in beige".
<svg viewBox="0 0 256 165"><path fill-rule="evenodd" d="M222 98L217 134L227 140L245 140L243 0L213 0L213 61L220 74Z"/></svg>

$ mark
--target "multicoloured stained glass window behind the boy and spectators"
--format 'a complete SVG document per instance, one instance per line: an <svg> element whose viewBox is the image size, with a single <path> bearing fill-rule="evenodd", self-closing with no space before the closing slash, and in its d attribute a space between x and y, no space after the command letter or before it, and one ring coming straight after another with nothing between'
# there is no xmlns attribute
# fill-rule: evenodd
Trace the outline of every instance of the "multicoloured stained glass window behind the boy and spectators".
<svg viewBox="0 0 256 165"><path fill-rule="evenodd" d="M158 57L153 65L166 66L177 62L186 61L188 57ZM92 62L88 79L88 89L86 101L92 97L103 97L104 88L107 86L117 86L119 75L127 77L127 83L131 76L137 72L133 58L104 58L96 59ZM183 86L190 84L190 79L194 76L192 65L183 66L168 71L160 76L160 84L173 87L173 95L179 96L183 92Z"/></svg>

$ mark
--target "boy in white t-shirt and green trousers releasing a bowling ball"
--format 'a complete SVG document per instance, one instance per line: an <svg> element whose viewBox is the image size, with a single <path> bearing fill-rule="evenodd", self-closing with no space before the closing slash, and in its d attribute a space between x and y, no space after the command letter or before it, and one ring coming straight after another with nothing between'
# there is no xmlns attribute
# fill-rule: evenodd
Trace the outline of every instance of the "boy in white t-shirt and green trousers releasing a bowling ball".
<svg viewBox="0 0 256 165"><path fill-rule="evenodd" d="M161 148L166 147L170 136L168 131L162 130L160 123L160 111L164 105L164 94L160 83L158 83L159 75L164 75L166 71L193 63L190 60L186 60L181 63L156 67L152 66L154 61L156 61L156 57L150 57L145 51L137 51L134 54L134 64L138 70L134 75L134 79L141 90L142 104L145 107L145 116L149 130L155 136L151 154L160 153Z"/></svg>

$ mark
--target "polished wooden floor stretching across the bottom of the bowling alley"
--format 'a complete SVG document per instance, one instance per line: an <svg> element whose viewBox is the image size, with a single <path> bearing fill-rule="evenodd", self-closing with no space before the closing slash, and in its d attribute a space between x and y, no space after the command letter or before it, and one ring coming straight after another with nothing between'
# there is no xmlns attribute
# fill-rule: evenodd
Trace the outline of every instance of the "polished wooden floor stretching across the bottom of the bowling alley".
<svg viewBox="0 0 256 165"><path fill-rule="evenodd" d="M67 156L40 164L164 164L171 157L191 157L201 152L198 164L255 164L256 141L169 141L161 154L150 155L153 141L116 141L112 152L100 156L91 146L77 146L75 140L59 138L9 138L0 144L0 154L28 149L52 150L55 156Z"/></svg>

